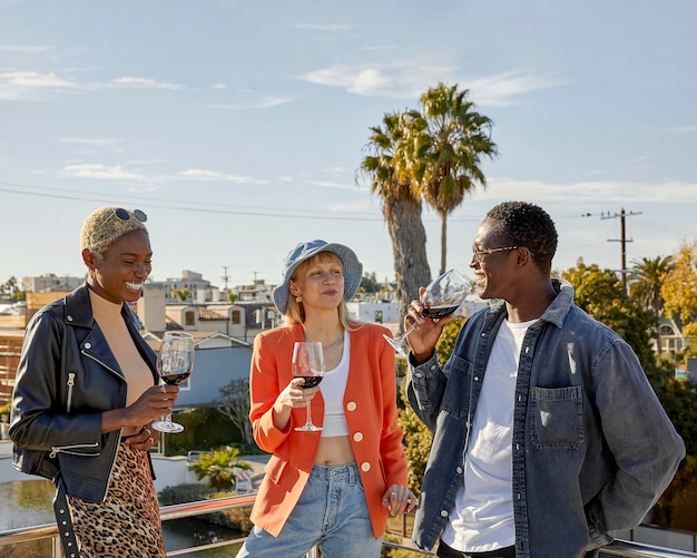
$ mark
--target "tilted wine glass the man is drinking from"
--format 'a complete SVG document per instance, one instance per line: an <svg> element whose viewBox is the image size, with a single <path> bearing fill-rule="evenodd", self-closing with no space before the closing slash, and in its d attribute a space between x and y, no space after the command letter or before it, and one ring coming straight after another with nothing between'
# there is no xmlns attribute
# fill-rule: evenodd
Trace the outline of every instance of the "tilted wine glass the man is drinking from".
<svg viewBox="0 0 697 558"><path fill-rule="evenodd" d="M474 291L475 283L470 278L465 278L457 270L449 270L442 275L435 277L421 295L421 303L425 305L422 317L439 317L452 314L464 302L467 295ZM419 326L419 322L414 322L399 337L392 339L390 335L383 335L396 353L406 356L402 349L402 344L409 334Z"/></svg>

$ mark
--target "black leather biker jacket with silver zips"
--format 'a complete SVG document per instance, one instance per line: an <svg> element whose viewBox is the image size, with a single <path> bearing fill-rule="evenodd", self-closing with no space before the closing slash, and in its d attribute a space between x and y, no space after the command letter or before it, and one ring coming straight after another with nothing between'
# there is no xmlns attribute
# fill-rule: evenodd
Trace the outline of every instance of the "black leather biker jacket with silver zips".
<svg viewBox="0 0 697 558"><path fill-rule="evenodd" d="M121 314L155 384L156 354L126 304ZM68 495L104 501L121 434L101 433L101 413L126 407L126 391L86 284L41 309L27 326L12 394L14 468L55 482L60 472Z"/></svg>

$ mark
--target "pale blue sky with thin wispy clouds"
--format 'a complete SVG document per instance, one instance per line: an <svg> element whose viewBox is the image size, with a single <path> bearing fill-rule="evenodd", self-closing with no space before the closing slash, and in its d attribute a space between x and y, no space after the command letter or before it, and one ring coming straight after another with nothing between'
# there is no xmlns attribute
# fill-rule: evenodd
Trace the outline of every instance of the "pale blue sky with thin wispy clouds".
<svg viewBox="0 0 697 558"><path fill-rule="evenodd" d="M499 149L448 267L511 199L554 219L557 270L619 270L622 209L629 266L670 255L697 237L696 21L694 0L0 0L0 283L82 276L104 205L148 215L155 281L276 284L314 238L393 281L359 169L370 128L439 82Z"/></svg>

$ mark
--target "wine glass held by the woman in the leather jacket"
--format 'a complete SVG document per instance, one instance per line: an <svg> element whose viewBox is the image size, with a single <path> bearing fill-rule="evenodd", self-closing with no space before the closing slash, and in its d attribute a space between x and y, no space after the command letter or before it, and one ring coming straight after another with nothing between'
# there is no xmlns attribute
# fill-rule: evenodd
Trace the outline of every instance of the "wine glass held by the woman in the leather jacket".
<svg viewBox="0 0 697 558"><path fill-rule="evenodd" d="M184 382L194 370L194 335L183 332L165 332L157 353L157 372L166 384ZM181 432L184 427L171 422L171 413L154 422L153 428L160 432Z"/></svg>

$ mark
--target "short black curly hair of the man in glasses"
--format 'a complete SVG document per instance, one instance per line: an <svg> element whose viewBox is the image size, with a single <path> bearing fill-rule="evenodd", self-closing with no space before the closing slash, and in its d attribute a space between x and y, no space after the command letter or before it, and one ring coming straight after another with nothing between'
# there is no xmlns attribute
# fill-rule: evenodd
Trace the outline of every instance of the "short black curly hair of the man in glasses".
<svg viewBox="0 0 697 558"><path fill-rule="evenodd" d="M489 209L485 218L507 243L527 247L540 271L551 272L559 237L544 209L528 202L503 202Z"/></svg>

